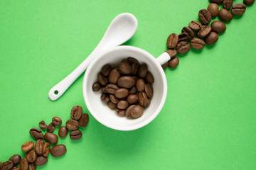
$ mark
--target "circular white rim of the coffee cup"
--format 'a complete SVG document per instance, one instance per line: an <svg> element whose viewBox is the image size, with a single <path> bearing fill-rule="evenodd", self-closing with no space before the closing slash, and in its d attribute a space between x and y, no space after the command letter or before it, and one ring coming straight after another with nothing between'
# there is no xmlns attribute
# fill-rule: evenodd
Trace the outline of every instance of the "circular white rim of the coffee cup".
<svg viewBox="0 0 256 170"><path fill-rule="evenodd" d="M93 66L95 64L97 64L97 62L104 57L105 55L107 55L107 53L109 52L113 52L113 51L118 51L118 50L132 50L132 51L136 51L139 53L142 53L144 56L146 56L148 58L148 60L151 60L151 62L154 62L156 65L156 68L158 69L159 74L161 75L161 77L163 78L163 84L164 84L164 89L163 89L163 95L161 96L161 102L158 106L158 108L156 109L156 111L153 113L153 115L151 115L149 118L147 118L146 120L144 120L142 123L139 123L137 125L131 125L128 127L119 127L119 126L115 126L115 125L111 125L110 123L107 123L105 120L103 120L102 118L100 118L95 111L93 110L92 106L90 106L90 102L89 102L89 98L87 96L86 93L86 89L87 89L87 79L89 79L90 77L90 71L93 69ZM159 62L156 60L156 58L153 57L153 55L151 55L149 52L146 52L145 50L142 50L139 47L134 47L134 46L129 46L129 45L121 45L121 46L117 46L117 47L112 47L109 50L105 50L104 52L102 52L100 55L97 56L97 58L95 60L92 60L92 62L89 64L89 66L87 67L87 70L85 72L84 75L84 79L82 82L82 94L85 100L85 104L87 106L87 109L90 111L91 115L102 125L105 125L108 128L112 128L114 130L122 130L122 131L129 131L129 130L136 130L139 128L144 127L145 125L151 123L152 120L154 120L154 118L156 118L156 116L160 113L161 109L164 106L164 103L166 101L166 95L167 95L167 81L166 81L166 75L164 74L164 70L162 69L161 65L159 64Z"/></svg>

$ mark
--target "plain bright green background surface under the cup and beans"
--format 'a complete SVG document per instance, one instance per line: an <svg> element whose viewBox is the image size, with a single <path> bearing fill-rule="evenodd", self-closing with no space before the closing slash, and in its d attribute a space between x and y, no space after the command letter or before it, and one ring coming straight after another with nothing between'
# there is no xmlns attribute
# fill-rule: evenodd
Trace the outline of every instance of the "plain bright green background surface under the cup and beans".
<svg viewBox="0 0 256 170"><path fill-rule="evenodd" d="M88 113L83 74L58 101L50 101L48 91L94 50L115 16L134 14L137 33L125 44L158 57L168 35L198 20L198 11L208 4L1 0L0 162L24 156L21 145L32 140L28 131L41 120L50 123L59 116L65 123L75 105ZM89 113L82 140L60 139L67 154L50 155L38 169L256 169L255 11L256 4L248 7L215 45L190 50L179 56L176 69L166 69L166 103L149 125L122 132Z"/></svg>

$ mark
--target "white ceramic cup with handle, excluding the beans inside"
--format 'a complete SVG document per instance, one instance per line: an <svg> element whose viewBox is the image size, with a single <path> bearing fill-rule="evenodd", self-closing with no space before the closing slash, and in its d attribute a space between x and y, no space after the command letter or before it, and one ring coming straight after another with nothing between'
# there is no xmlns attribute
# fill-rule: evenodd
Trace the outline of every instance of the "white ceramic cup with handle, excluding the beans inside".
<svg viewBox="0 0 256 170"><path fill-rule="evenodd" d="M134 57L141 64L146 63L149 71L154 76L154 84L152 84L154 96L151 98L151 104L144 109L142 117L135 119L127 119L125 116L120 117L115 111L108 108L107 103L103 103L100 100L101 91L92 91L92 84L97 81L97 74L99 74L103 65L117 66L122 59L127 57ZM149 52L132 46L113 47L102 52L87 68L82 84L85 103L92 116L102 125L114 130L135 130L150 123L159 114L166 100L167 83L161 64L164 64L169 59L170 57L166 52L158 58L154 58Z"/></svg>

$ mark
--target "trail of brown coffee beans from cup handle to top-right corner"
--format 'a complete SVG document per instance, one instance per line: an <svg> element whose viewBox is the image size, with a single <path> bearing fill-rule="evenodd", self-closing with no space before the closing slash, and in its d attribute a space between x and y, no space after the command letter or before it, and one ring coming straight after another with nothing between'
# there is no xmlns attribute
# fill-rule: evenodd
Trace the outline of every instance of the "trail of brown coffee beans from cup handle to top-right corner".
<svg viewBox="0 0 256 170"><path fill-rule="evenodd" d="M205 45L213 45L218 41L219 34L224 33L226 26L224 22L230 22L234 16L242 16L246 6L250 6L255 0L244 0L243 4L233 4L233 0L210 0L207 9L201 9L198 13L199 21L191 21L188 27L183 27L181 34L171 33L167 38L166 45L169 48L166 52L171 60L162 65L163 69L170 67L174 69L178 66L177 54L185 54L191 47L195 50L202 50ZM223 8L219 11L219 5ZM218 16L221 21L212 21ZM223 22L222 22L223 21ZM210 24L210 26L208 26Z"/></svg>

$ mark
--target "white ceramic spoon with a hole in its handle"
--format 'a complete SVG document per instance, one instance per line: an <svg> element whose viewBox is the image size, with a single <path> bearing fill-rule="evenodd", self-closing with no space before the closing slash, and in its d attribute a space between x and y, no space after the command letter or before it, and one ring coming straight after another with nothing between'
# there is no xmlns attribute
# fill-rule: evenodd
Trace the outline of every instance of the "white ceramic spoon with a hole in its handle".
<svg viewBox="0 0 256 170"><path fill-rule="evenodd" d="M131 13L121 13L116 16L110 26L107 28L105 35L103 36L100 43L95 47L95 50L83 61L73 72L71 72L68 77L65 77L58 84L50 89L48 96L50 100L57 100L63 93L68 89L68 87L73 84L73 82L78 79L82 72L89 66L90 62L97 57L97 54L107 50L111 47L116 47L122 45L134 35L137 30L138 22L137 18Z"/></svg>

